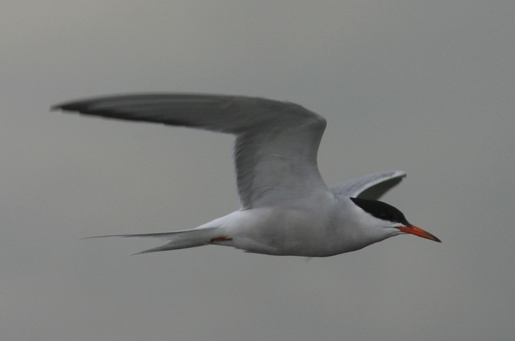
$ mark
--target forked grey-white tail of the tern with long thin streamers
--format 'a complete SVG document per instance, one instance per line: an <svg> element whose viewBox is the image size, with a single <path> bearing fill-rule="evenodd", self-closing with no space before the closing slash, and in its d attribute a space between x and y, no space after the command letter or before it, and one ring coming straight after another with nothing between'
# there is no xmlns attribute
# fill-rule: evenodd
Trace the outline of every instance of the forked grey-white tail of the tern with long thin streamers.
<svg viewBox="0 0 515 341"><path fill-rule="evenodd" d="M113 235L101 235L96 237L87 237L89 238L104 238L104 237L125 237L125 238L158 238L164 241L168 241L168 243L151 248L148 250L143 250L141 252L136 252L133 254L140 253L149 253L149 252L158 252L158 251L166 251L166 250L176 250L176 249L185 249L189 247L196 247L202 245L208 245L213 242L217 242L220 238L225 238L220 236L220 232L217 231L218 227L205 227L205 228L196 228L192 230L182 230L175 232L166 232L166 233L148 233L148 234L113 234Z"/></svg>

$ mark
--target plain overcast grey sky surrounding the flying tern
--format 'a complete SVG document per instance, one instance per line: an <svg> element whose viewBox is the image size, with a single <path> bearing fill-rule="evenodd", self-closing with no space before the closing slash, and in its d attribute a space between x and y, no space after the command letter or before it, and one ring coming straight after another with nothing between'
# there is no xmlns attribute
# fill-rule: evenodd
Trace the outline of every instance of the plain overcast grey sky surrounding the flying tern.
<svg viewBox="0 0 515 341"><path fill-rule="evenodd" d="M0 338L507 340L515 2L9 1L0 11ZM238 208L232 137L49 112L132 92L298 103L328 184L400 169L398 236L312 259L81 237Z"/></svg>

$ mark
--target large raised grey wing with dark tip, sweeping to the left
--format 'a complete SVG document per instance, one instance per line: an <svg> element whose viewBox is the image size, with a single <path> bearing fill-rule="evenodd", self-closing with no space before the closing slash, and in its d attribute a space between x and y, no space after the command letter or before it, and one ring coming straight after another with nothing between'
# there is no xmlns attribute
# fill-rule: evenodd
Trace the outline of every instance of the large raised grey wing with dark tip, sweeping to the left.
<svg viewBox="0 0 515 341"><path fill-rule="evenodd" d="M325 119L296 104L243 96L144 94L85 99L52 109L236 135L234 162L244 209L328 191L317 166Z"/></svg>

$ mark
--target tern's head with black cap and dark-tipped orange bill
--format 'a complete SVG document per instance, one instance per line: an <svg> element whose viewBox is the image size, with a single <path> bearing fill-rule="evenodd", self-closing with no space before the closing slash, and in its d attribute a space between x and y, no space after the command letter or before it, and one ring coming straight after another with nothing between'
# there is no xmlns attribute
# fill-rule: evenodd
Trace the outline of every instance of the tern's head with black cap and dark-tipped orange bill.
<svg viewBox="0 0 515 341"><path fill-rule="evenodd" d="M401 211L386 202L361 198L350 199L357 207L365 211L368 218L371 218L366 219L370 222L369 224L373 225L375 228L380 228L378 232L380 235L384 236L383 239L402 233L409 233L441 243L441 241L431 233L408 223L408 220L406 220Z"/></svg>

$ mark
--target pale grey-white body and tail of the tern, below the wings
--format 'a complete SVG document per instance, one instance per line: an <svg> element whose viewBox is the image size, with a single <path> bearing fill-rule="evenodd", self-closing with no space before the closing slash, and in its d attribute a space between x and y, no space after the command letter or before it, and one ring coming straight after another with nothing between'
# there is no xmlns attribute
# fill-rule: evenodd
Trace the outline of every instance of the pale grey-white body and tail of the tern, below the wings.
<svg viewBox="0 0 515 341"><path fill-rule="evenodd" d="M330 193L304 199L298 207L239 210L193 230L159 235L168 241L146 252L203 245L231 246L252 253L328 257L361 249L399 234L397 229L378 228L384 224L369 215L359 214L347 199ZM369 227L369 228L367 228Z"/></svg>

